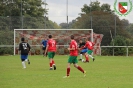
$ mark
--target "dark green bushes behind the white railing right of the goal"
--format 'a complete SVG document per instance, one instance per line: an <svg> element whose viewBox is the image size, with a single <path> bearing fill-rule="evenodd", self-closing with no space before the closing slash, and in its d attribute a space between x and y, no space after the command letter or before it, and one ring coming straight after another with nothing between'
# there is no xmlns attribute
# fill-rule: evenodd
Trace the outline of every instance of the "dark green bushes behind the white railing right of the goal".
<svg viewBox="0 0 133 88"><path fill-rule="evenodd" d="M132 39L133 40L133 39ZM123 36L116 36L114 40L111 41L111 46L114 47L108 47L108 48L102 48L102 55L114 55L115 56L125 56L127 54L127 49L128 49L128 54L133 55L133 48L128 47L132 46L132 41L131 39L127 39ZM127 47L115 47L115 46L127 46Z"/></svg>

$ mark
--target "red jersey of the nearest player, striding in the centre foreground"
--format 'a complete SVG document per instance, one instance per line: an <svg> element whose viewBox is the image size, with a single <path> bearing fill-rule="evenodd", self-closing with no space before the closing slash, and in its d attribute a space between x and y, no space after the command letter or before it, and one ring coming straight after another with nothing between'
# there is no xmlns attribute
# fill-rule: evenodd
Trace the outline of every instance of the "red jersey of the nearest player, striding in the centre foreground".
<svg viewBox="0 0 133 88"><path fill-rule="evenodd" d="M74 50L70 50L70 56L78 56L78 44L75 40L71 40L69 48L74 48Z"/></svg>

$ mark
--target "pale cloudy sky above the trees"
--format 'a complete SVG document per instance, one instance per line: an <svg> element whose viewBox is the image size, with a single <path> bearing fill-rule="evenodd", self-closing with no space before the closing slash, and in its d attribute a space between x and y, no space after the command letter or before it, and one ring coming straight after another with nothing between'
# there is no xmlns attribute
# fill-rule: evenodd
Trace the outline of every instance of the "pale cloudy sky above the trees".
<svg viewBox="0 0 133 88"><path fill-rule="evenodd" d="M81 13L81 8L84 4L89 5L91 1L96 0L43 0L48 4L46 9L48 9L48 15L50 20L60 23L67 23L76 19ZM101 4L111 5L111 9L114 10L115 0L98 0ZM131 0L133 2L133 0ZM67 4L68 2L68 4ZM117 2L129 2L129 0L117 0ZM129 5L128 5L129 6ZM130 8L130 7L128 7ZM116 13L117 14L117 13ZM119 15L118 15L119 16ZM133 23L133 10L126 16L119 16L120 19L127 19L130 23Z"/></svg>

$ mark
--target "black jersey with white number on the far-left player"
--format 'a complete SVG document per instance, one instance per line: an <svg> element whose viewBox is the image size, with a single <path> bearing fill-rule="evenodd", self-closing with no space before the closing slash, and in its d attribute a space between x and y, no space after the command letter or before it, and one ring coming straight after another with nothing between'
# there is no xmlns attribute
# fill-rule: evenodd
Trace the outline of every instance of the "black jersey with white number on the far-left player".
<svg viewBox="0 0 133 88"><path fill-rule="evenodd" d="M21 51L21 55L28 55L30 48L30 45L26 42L21 42L19 44L19 51Z"/></svg>

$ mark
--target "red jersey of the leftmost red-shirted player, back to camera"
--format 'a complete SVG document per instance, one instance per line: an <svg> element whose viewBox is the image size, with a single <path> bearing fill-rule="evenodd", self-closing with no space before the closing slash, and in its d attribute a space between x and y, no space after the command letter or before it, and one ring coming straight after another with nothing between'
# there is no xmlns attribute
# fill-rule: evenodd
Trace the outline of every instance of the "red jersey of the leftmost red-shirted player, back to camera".
<svg viewBox="0 0 133 88"><path fill-rule="evenodd" d="M53 39L49 39L47 42L48 51L55 52L56 51L56 41Z"/></svg>

